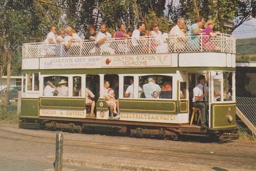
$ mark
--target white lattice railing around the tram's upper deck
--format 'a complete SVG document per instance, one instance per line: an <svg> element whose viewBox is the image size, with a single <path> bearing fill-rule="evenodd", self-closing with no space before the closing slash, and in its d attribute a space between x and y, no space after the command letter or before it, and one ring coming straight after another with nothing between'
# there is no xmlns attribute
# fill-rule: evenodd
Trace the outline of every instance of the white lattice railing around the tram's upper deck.
<svg viewBox="0 0 256 171"><path fill-rule="evenodd" d="M207 39L209 41L205 43ZM194 43L189 43L191 40ZM134 43L138 46L134 46ZM24 43L22 46L22 58L180 52L236 53L236 39L227 34L219 34L215 38L209 38L207 35L185 34L182 37L180 35L163 35L159 38L144 36L137 41L111 38L101 46L98 46L96 41L79 41L72 43L68 50L65 49L64 44L60 43Z"/></svg>

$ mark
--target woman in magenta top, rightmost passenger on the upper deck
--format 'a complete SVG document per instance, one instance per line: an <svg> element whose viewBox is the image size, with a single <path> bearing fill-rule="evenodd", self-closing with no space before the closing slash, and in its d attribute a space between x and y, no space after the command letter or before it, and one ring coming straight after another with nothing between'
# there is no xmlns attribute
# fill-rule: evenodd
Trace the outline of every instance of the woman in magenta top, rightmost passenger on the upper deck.
<svg viewBox="0 0 256 171"><path fill-rule="evenodd" d="M212 31L215 25L215 22L213 20L208 20L206 25L207 27L205 27L204 30L202 31L203 33L202 43L203 43L204 50L207 50L207 51L219 50L220 48L210 40L210 38L215 38L218 34L220 34L220 32Z"/></svg>

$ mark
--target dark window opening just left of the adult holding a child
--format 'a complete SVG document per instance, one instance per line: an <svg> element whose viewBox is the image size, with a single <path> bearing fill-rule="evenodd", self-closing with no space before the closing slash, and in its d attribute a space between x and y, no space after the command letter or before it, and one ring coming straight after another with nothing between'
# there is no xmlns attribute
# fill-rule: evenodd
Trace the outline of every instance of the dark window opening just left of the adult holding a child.
<svg viewBox="0 0 256 171"><path fill-rule="evenodd" d="M94 94L94 99L99 98L99 75L86 75L85 86Z"/></svg>

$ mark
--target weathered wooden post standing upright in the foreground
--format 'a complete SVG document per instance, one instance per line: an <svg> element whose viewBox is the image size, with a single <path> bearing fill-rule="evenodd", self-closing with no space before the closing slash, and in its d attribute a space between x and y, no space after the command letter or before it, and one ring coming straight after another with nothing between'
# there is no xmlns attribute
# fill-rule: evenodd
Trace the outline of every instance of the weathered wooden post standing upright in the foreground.
<svg viewBox="0 0 256 171"><path fill-rule="evenodd" d="M55 171L62 171L62 157L63 157L63 132L56 133L56 154L55 162L53 163Z"/></svg>

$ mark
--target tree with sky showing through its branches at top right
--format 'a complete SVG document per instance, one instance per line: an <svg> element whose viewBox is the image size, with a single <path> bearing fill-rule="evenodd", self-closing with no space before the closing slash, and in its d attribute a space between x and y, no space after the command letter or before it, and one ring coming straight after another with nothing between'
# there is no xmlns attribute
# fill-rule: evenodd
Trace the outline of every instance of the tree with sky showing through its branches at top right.
<svg viewBox="0 0 256 171"><path fill-rule="evenodd" d="M193 18L199 14L206 20L216 20L216 30L230 32L220 28L219 21L234 21L235 28L240 26L244 21L255 17L256 0L180 0L178 6L169 4L168 9L168 17L173 22L177 22L179 17L185 17L188 23L192 23Z"/></svg>

